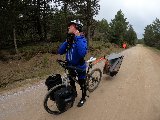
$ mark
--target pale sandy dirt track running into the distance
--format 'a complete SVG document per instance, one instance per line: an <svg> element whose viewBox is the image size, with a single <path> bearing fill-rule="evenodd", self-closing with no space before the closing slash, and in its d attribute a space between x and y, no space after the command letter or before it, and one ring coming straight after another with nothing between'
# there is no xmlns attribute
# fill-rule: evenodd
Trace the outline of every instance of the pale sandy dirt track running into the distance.
<svg viewBox="0 0 160 120"><path fill-rule="evenodd" d="M160 55L142 45L122 54L117 76L104 75L83 107L76 107L79 95L67 112L48 114L43 108L46 87L42 82L1 95L0 120L160 120Z"/></svg>

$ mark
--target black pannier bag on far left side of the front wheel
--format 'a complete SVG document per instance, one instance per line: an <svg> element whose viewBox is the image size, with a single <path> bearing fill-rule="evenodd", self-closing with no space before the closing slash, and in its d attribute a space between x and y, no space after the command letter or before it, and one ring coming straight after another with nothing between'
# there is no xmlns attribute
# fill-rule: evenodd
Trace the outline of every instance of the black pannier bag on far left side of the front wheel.
<svg viewBox="0 0 160 120"><path fill-rule="evenodd" d="M53 88L53 87L55 87L56 85L59 85L59 84L62 84L62 78L61 78L60 74L51 75L45 81L45 85L47 86L48 91L51 88ZM59 89L59 88L57 88L57 89ZM50 99L53 100L53 101L55 101L54 93L55 93L55 91L57 91L57 89L52 91L52 93L50 94Z"/></svg>

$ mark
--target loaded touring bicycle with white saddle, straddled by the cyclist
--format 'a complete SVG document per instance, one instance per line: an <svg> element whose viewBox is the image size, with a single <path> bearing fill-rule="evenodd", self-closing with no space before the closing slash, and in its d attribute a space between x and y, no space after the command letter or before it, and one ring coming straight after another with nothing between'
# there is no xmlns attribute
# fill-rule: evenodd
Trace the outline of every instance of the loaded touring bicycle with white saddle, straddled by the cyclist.
<svg viewBox="0 0 160 120"><path fill-rule="evenodd" d="M86 72L86 89L87 91L89 92L93 92L99 85L100 81L101 81L101 78L102 78L102 72L99 68L95 68L93 70L91 70L94 66L93 62L96 60L96 58L90 58L90 60L87 61L88 63L88 68L87 68L87 72ZM83 71L82 69L79 69L79 68L76 68L74 66L67 66L66 65L66 62L65 61L62 61L62 60L57 60L57 62L59 63L59 65L61 67L64 68L64 71L65 71L65 74L62 76L62 84L59 84L59 85L56 85L54 86L53 88L51 88L45 98L44 98L44 109L50 113L50 114L60 114L64 111L55 111L55 109L57 109L55 101L51 100L50 99L50 96L59 88L62 88L62 87L67 87L67 86L70 86L70 79L69 79L69 73L68 73L68 70L72 69L72 70L76 70L76 71ZM90 71L91 70L91 71ZM97 73L97 74L95 74ZM96 76L94 76L96 75ZM72 77L72 80L74 80L77 84L78 83L78 79L76 77ZM88 96L88 95L87 95ZM89 97L89 96L88 96ZM73 106L74 102L69 104L68 108L71 108ZM67 109L68 109L67 108ZM67 110L66 109L66 110ZM65 110L65 111L66 111Z"/></svg>

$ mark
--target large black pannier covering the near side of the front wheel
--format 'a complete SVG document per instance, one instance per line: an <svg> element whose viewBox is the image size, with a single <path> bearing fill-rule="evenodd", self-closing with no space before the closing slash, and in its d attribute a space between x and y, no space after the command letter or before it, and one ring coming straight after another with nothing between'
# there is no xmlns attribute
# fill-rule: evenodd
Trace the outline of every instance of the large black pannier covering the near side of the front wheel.
<svg viewBox="0 0 160 120"><path fill-rule="evenodd" d="M75 101L75 91L71 86L63 87L55 92L55 102L60 112L71 108Z"/></svg>

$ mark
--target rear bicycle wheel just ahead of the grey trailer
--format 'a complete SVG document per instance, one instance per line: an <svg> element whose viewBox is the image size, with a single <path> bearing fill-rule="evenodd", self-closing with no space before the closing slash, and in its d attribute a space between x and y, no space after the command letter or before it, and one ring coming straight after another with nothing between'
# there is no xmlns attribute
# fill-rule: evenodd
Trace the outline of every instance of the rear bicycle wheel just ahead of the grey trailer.
<svg viewBox="0 0 160 120"><path fill-rule="evenodd" d="M99 85L102 79L102 71L99 68L95 68L88 75L88 91L93 92Z"/></svg>

